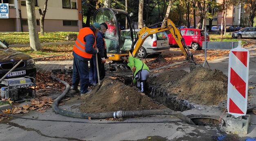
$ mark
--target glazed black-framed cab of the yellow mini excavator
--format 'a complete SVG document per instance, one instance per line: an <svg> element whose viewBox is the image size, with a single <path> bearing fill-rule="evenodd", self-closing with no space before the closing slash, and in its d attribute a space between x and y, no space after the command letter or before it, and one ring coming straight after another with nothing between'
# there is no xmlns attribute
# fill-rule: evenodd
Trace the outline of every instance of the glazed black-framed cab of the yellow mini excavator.
<svg viewBox="0 0 256 141"><path fill-rule="evenodd" d="M100 8L95 11L93 22L99 24L104 22L108 26L105 32L105 43L109 60L120 61L127 58L127 52L131 50L131 46L126 44L133 44L135 39L129 14L120 9ZM125 29L128 29L130 34L121 35L120 31Z"/></svg>

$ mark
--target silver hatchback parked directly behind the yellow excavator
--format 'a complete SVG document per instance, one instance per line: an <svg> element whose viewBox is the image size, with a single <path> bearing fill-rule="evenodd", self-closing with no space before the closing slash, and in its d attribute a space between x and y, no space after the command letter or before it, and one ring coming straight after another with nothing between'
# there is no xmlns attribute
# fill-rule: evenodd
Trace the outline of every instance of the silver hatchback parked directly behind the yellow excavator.
<svg viewBox="0 0 256 141"><path fill-rule="evenodd" d="M140 29L135 29L135 34L140 31ZM131 49L131 32L130 30L121 30L121 39L124 41L123 47L120 50L130 50ZM123 49L122 49L123 48ZM166 32L155 33L147 37L142 44L137 56L139 58L145 58L149 53L161 53L169 51L169 40Z"/></svg>

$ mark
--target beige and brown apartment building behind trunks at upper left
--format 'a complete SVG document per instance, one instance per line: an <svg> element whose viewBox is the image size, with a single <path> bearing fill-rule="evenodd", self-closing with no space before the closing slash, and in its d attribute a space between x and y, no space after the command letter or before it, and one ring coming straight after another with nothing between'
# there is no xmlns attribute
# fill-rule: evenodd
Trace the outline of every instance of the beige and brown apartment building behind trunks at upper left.
<svg viewBox="0 0 256 141"><path fill-rule="evenodd" d="M34 0L37 30L40 31L40 14L45 0ZM28 32L26 0L0 0L9 3L9 18L0 19L0 32ZM45 32L79 31L82 28L81 0L48 0L45 15Z"/></svg>

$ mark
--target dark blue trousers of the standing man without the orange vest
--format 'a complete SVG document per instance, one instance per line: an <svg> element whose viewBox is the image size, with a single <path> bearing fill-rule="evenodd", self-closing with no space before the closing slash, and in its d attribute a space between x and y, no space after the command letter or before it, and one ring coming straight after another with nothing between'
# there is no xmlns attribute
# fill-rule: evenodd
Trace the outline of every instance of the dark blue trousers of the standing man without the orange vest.
<svg viewBox="0 0 256 141"><path fill-rule="evenodd" d="M89 82L90 85L96 85L98 83L97 64L95 55L93 55L90 59Z"/></svg>

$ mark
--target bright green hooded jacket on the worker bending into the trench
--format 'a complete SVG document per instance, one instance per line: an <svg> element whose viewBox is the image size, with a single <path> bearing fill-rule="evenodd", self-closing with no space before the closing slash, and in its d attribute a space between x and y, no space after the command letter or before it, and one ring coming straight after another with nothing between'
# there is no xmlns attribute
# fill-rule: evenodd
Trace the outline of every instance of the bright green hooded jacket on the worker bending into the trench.
<svg viewBox="0 0 256 141"><path fill-rule="evenodd" d="M134 72L134 77L136 76L137 72L141 70L142 68L142 61L138 58L134 58L133 56L129 56L128 58L128 66L131 68L131 71L132 71L132 68L133 67L136 67L136 71ZM143 68L142 69L146 69L149 71L149 67L143 63ZM136 80L134 79L133 83L136 83Z"/></svg>

